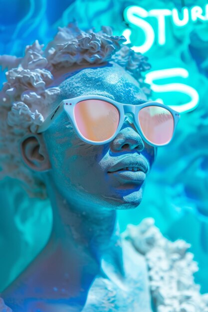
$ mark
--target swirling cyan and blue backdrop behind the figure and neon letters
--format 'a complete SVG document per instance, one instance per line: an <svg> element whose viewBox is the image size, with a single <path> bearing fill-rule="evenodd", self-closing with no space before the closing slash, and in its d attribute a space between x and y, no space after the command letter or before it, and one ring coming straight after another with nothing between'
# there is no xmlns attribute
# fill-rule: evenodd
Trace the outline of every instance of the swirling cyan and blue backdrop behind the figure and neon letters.
<svg viewBox="0 0 208 312"><path fill-rule="evenodd" d="M206 3L157 0L154 8ZM0 54L22 56L25 45L35 39L47 43L58 26L73 19L80 28L109 25L121 34L126 28L123 10L132 4L153 8L150 0L0 0ZM138 224L151 216L167 237L191 243L200 267L196 281L204 293L208 292L208 22L178 30L168 24L167 38L166 46L155 45L147 52L153 70L186 68L200 104L182 116L173 143L159 149L142 204L134 211L119 212L119 221L124 230L127 223ZM4 72L0 81L5 81ZM179 96L166 94L165 103L172 104ZM43 248L51 221L47 200L28 198L18 181L0 182L0 290Z"/></svg>

